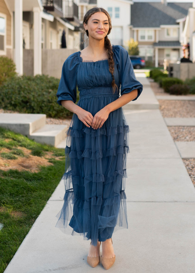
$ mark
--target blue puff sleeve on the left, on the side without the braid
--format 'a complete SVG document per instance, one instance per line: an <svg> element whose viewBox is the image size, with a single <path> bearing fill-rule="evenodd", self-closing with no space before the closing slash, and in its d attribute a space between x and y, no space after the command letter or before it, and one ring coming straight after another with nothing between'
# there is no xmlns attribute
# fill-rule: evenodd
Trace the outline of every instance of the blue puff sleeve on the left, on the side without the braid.
<svg viewBox="0 0 195 273"><path fill-rule="evenodd" d="M79 65L78 53L71 54L63 63L61 78L57 91L57 102L61 105L61 100L77 101L77 70Z"/></svg>

